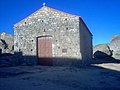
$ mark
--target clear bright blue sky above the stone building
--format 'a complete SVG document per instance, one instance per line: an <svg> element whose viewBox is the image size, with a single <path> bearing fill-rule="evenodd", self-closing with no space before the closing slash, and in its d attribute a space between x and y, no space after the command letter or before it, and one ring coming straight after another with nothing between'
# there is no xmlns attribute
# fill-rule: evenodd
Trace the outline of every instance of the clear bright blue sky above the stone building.
<svg viewBox="0 0 120 90"><path fill-rule="evenodd" d="M93 34L93 45L120 34L120 0L0 0L0 33L14 34L13 25L47 6L81 16Z"/></svg>

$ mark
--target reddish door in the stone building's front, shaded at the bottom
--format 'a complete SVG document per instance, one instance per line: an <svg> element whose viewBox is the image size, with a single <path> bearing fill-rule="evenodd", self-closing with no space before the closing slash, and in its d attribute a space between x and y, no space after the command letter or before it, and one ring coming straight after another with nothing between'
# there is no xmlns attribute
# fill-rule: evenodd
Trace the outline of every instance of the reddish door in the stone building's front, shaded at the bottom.
<svg viewBox="0 0 120 90"><path fill-rule="evenodd" d="M38 63L41 65L52 65L52 38L40 37L37 41Z"/></svg>

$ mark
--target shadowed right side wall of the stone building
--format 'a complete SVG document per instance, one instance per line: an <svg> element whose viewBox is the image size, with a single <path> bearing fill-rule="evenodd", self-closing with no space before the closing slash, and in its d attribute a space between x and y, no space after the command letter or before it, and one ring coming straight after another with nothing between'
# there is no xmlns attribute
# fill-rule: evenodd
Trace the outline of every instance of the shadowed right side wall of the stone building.
<svg viewBox="0 0 120 90"><path fill-rule="evenodd" d="M92 33L82 19L80 19L80 52L82 54L82 63L89 64L93 57Z"/></svg>

